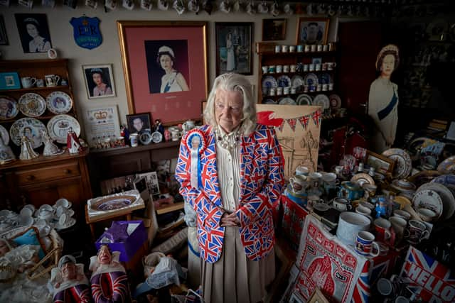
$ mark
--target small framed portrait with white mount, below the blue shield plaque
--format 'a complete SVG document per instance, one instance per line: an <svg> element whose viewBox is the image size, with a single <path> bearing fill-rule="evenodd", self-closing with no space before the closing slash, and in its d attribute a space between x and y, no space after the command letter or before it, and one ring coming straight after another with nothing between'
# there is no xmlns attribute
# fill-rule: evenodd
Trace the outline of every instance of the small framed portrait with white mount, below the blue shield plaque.
<svg viewBox="0 0 455 303"><path fill-rule="evenodd" d="M82 65L88 99L114 97L112 65Z"/></svg>

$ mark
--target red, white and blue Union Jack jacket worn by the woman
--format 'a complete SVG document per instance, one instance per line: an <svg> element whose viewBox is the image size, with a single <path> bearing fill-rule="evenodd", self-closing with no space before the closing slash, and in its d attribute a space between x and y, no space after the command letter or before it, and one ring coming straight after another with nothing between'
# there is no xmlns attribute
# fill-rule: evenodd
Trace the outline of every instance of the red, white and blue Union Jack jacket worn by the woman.
<svg viewBox="0 0 455 303"><path fill-rule="evenodd" d="M191 151L183 137L176 167L180 192L198 214L200 255L215 263L223 250L225 228L220 226L223 202L218 182L216 138L212 126L199 128L205 148L200 154L200 182L191 187ZM188 135L188 133L187 133ZM236 212L240 238L251 260L261 260L274 245L272 204L284 184L284 159L274 128L257 124L250 136L241 138L240 201Z"/></svg>

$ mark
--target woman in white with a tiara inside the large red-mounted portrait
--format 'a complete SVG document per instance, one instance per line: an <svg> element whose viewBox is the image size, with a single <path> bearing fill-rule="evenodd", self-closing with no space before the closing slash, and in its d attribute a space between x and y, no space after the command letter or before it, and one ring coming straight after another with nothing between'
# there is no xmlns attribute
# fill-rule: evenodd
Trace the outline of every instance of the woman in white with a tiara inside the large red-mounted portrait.
<svg viewBox="0 0 455 303"><path fill-rule="evenodd" d="M176 62L176 56L173 54L172 48L168 46L161 46L158 50L157 61L161 68L166 72L161 77L160 92L182 92L188 91L188 84L186 84L185 77L173 68L173 63Z"/></svg>

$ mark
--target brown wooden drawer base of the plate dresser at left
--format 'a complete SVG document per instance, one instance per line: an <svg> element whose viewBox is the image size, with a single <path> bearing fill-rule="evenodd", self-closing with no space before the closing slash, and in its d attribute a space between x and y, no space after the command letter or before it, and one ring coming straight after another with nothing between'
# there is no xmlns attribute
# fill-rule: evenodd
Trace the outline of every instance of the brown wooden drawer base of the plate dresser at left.
<svg viewBox="0 0 455 303"><path fill-rule="evenodd" d="M23 204L54 204L60 198L73 203L77 218L83 218L83 205L92 197L87 162L88 151L70 155L16 160L0 165L0 209Z"/></svg>

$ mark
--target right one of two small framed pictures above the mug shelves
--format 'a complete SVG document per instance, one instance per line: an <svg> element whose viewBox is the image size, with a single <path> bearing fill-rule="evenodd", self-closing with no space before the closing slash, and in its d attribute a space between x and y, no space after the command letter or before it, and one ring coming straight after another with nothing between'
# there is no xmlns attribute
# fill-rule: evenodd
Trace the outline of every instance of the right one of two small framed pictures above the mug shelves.
<svg viewBox="0 0 455 303"><path fill-rule="evenodd" d="M299 18L296 44L326 44L330 18Z"/></svg>

